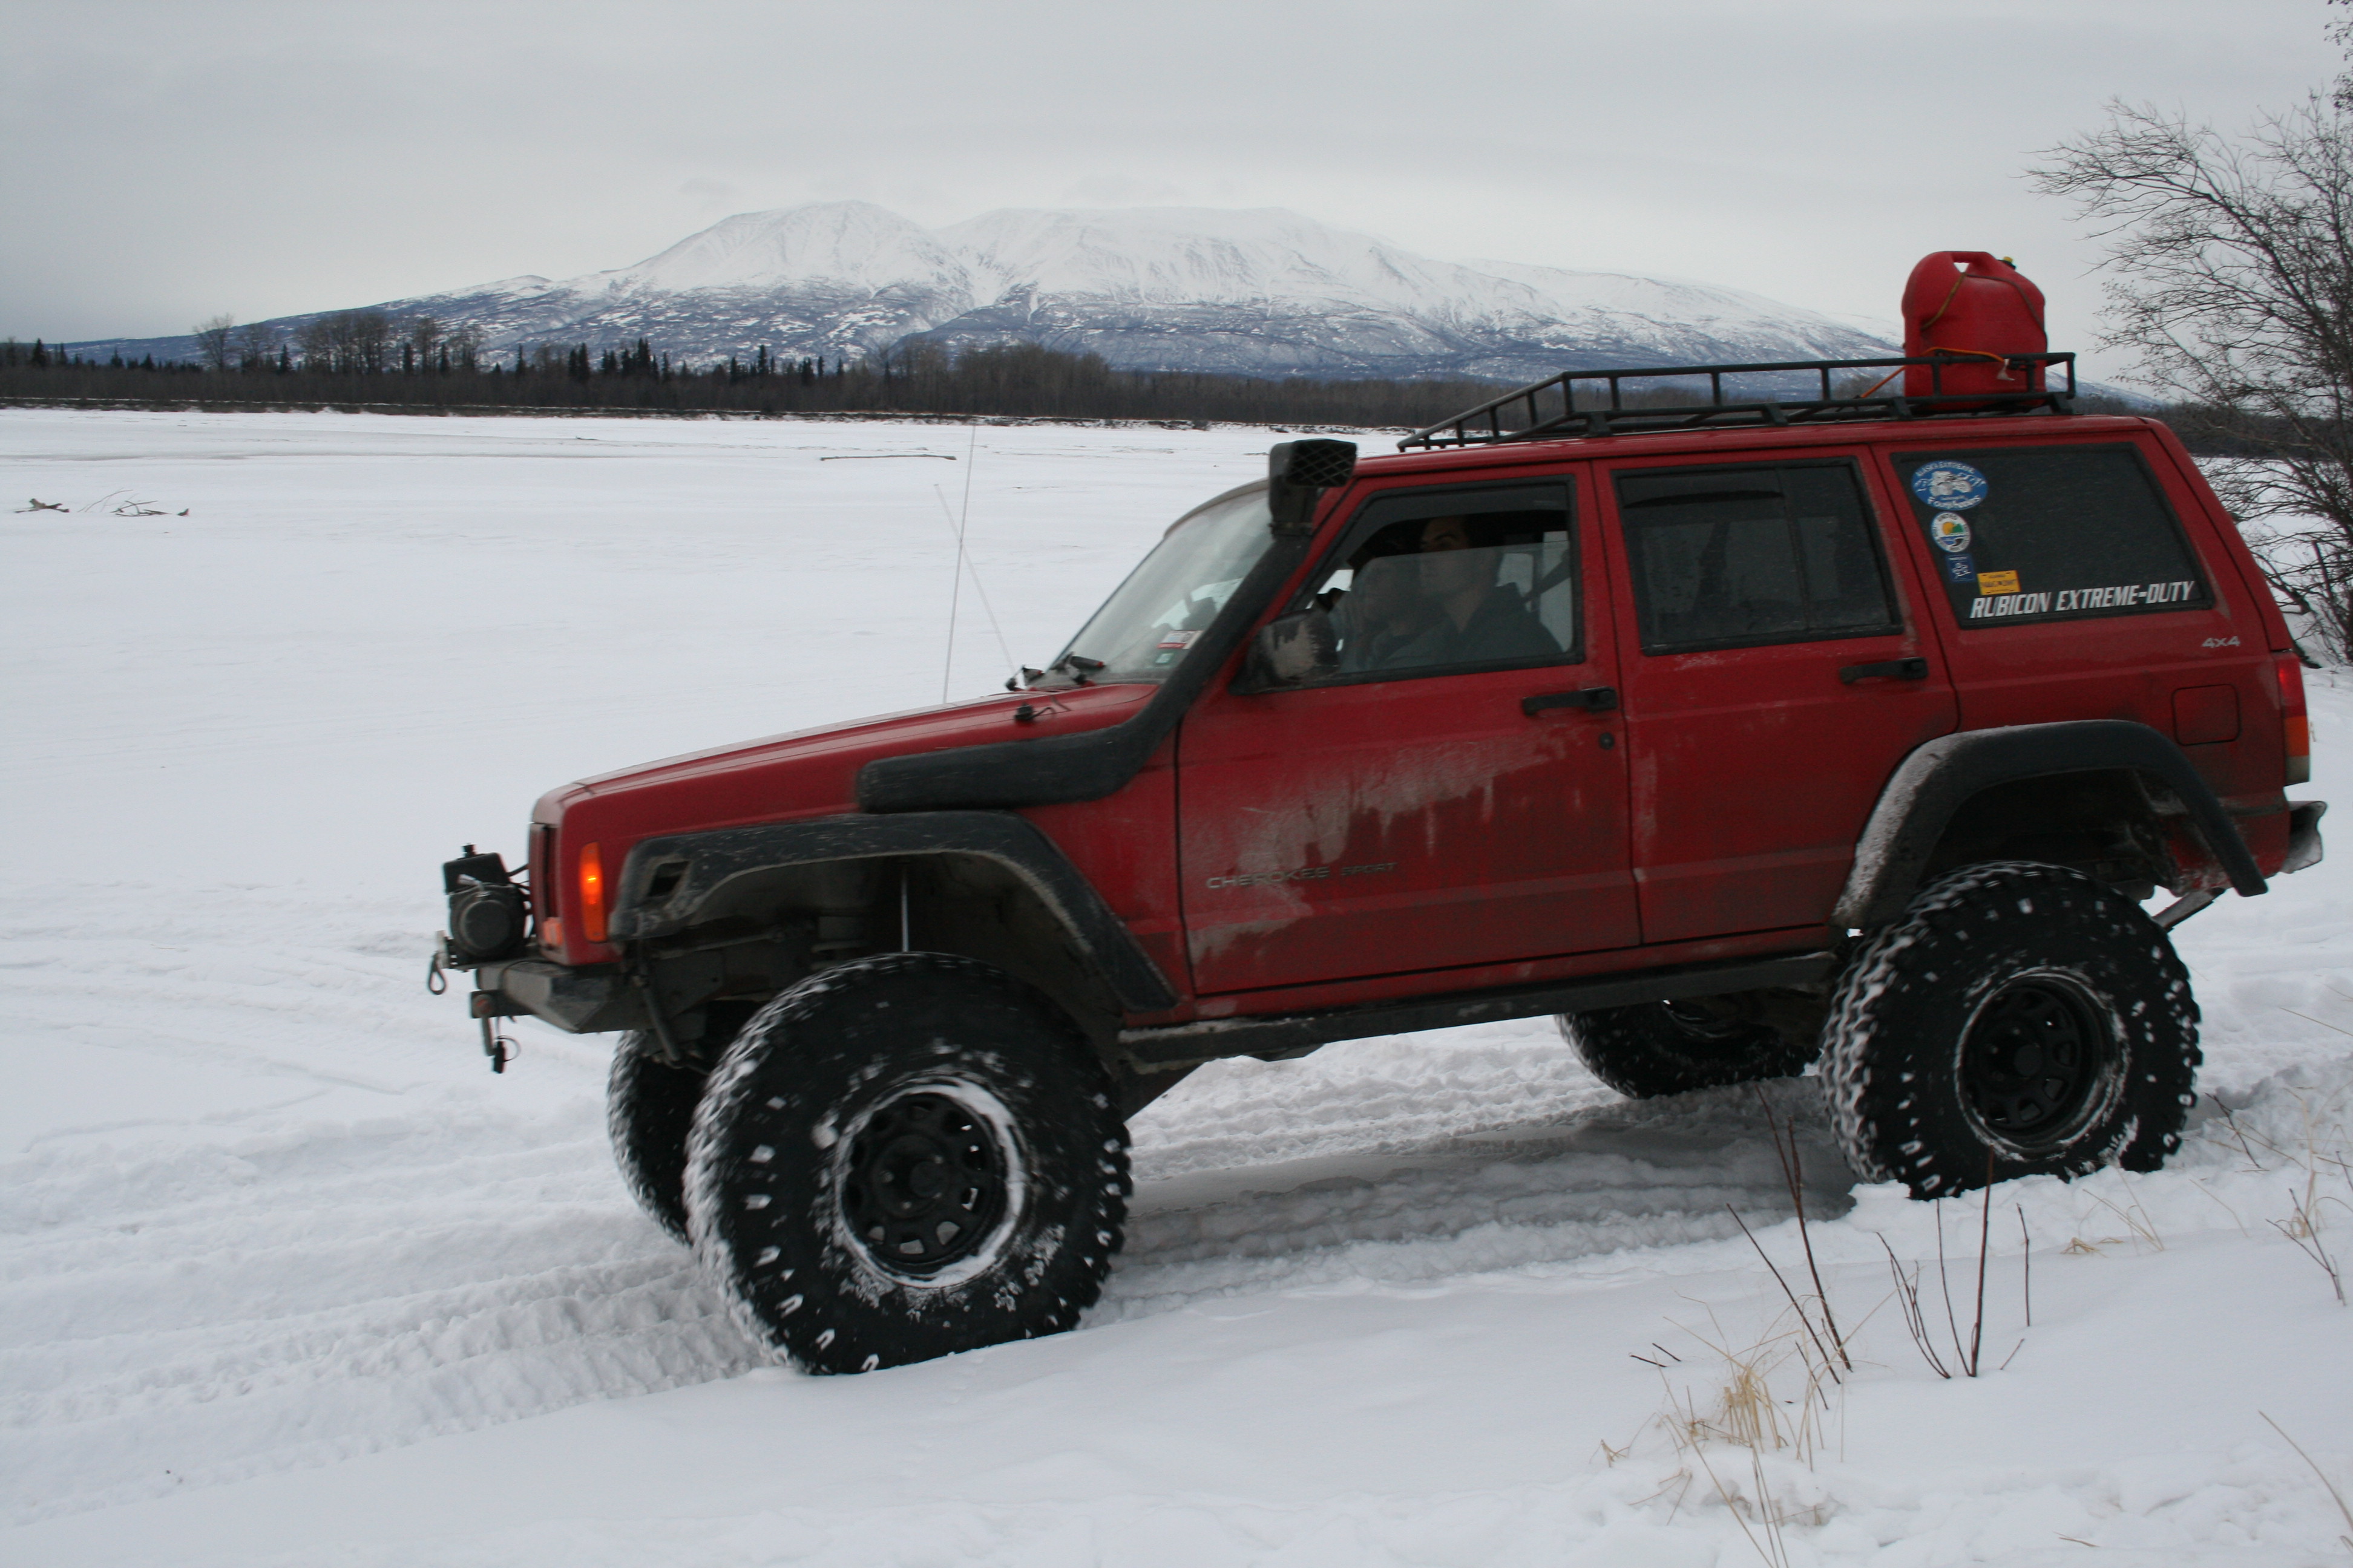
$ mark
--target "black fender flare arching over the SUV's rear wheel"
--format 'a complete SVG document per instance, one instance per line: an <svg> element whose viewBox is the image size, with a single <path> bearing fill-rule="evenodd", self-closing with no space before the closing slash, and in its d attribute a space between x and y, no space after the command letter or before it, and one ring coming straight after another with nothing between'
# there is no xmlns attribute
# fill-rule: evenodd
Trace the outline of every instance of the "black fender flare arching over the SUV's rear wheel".
<svg viewBox="0 0 2353 1568"><path fill-rule="evenodd" d="M2167 736L2132 719L2009 724L1937 736L1915 748L1880 790L1854 867L1831 912L1845 931L1885 926L1920 891L1920 872L1953 813L1979 790L2054 773L2127 771L2155 783L2188 813L2207 853L2242 898L2268 891L2254 851L2191 759Z"/></svg>

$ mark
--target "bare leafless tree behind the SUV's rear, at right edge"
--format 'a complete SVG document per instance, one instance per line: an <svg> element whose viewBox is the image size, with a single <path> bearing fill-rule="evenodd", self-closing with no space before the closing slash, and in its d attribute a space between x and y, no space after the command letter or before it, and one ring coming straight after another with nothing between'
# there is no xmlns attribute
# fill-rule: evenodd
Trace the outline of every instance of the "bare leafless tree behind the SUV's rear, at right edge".
<svg viewBox="0 0 2353 1568"><path fill-rule="evenodd" d="M2031 169L2106 240L2108 348L2200 407L2228 449L2209 477L2273 590L2353 658L2353 110L2308 99L2221 136L2158 108Z"/></svg>

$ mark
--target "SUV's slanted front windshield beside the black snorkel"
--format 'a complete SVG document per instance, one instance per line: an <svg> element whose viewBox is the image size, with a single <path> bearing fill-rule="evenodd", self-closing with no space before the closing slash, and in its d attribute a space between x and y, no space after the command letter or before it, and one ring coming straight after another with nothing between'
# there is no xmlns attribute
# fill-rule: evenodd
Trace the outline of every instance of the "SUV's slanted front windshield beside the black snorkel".
<svg viewBox="0 0 2353 1568"><path fill-rule="evenodd" d="M1271 524L1264 484L1179 517L1071 639L1045 684L1167 679L1266 555Z"/></svg>

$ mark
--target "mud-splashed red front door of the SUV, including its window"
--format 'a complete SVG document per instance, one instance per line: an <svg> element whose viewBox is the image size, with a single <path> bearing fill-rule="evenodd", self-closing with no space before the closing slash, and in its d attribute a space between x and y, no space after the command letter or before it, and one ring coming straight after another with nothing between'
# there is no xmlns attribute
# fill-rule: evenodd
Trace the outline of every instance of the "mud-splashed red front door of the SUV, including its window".
<svg viewBox="0 0 2353 1568"><path fill-rule="evenodd" d="M1617 654L1579 482L1374 491L1282 607L1320 621L1325 663L1186 717L1200 994L1638 940Z"/></svg>

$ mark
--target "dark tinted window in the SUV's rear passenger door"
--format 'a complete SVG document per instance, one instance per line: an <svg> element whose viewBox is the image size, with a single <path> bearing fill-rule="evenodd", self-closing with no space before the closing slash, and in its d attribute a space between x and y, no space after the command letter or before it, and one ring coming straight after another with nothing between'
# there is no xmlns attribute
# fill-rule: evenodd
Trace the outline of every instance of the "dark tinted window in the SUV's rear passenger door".
<svg viewBox="0 0 2353 1568"><path fill-rule="evenodd" d="M1901 630L1847 463L1617 475L1645 654Z"/></svg>

